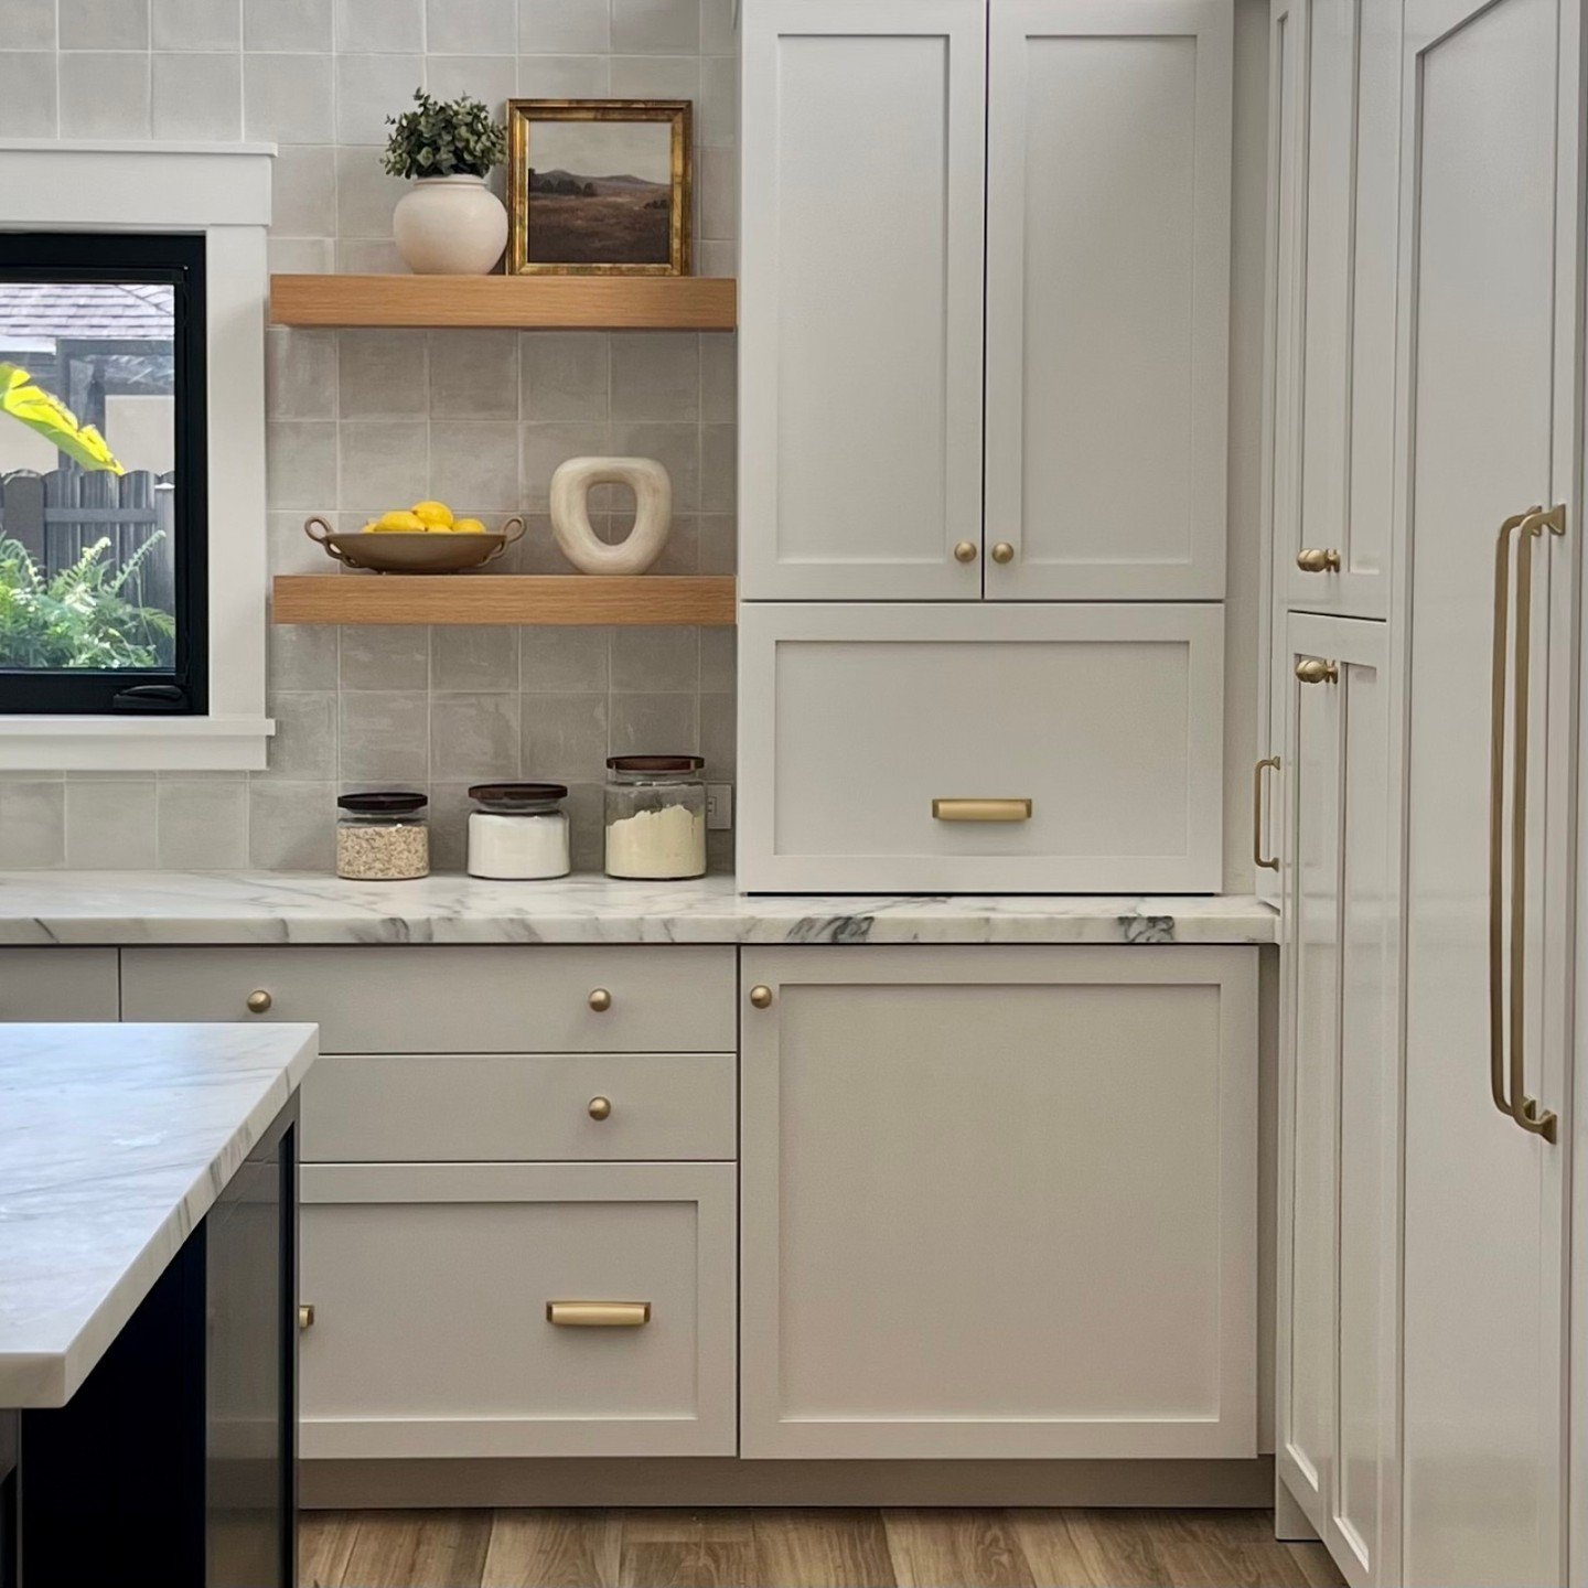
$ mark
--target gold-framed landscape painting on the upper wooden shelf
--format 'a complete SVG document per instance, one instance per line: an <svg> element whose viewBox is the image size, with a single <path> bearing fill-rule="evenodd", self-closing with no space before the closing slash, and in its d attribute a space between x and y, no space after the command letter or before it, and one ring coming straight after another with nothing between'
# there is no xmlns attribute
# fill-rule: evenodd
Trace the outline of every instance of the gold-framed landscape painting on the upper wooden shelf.
<svg viewBox="0 0 1588 1588"><path fill-rule="evenodd" d="M657 124L665 132L616 132ZM692 124L689 100L508 100L508 275L689 275ZM537 129L543 129L538 143ZM553 164L537 167L537 148L546 145ZM573 162L618 168L576 170ZM546 191L530 189L548 178Z"/></svg>

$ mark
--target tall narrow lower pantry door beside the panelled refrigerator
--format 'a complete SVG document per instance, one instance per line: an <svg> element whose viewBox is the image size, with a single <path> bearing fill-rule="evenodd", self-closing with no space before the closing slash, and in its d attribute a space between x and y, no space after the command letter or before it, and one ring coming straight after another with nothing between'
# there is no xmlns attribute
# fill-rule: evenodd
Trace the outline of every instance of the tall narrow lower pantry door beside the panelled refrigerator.
<svg viewBox="0 0 1588 1588"><path fill-rule="evenodd" d="M1388 659L1380 622L1289 621L1277 1467L1353 1588L1397 1580Z"/></svg>

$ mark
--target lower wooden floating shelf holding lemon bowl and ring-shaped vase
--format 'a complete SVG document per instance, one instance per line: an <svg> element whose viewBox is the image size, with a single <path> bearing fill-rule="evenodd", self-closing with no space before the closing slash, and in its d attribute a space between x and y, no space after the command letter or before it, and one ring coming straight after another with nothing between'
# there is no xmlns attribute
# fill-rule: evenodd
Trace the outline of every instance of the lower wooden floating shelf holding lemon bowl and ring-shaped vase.
<svg viewBox="0 0 1588 1588"><path fill-rule="evenodd" d="M272 622L734 622L732 575L278 573Z"/></svg>

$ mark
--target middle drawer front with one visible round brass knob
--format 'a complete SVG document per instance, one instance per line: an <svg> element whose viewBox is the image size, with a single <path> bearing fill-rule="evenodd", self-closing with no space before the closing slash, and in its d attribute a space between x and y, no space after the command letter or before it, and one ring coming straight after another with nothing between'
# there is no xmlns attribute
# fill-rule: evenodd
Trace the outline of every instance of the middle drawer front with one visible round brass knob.
<svg viewBox="0 0 1588 1588"><path fill-rule="evenodd" d="M345 1054L303 1083L303 1158L732 1159L735 1097L730 1053Z"/></svg>

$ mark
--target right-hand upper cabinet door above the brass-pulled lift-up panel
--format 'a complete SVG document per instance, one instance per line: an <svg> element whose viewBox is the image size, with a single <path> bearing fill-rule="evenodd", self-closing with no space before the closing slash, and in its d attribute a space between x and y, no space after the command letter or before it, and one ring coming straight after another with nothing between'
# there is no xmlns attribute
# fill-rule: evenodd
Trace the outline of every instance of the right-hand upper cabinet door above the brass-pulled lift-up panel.
<svg viewBox="0 0 1588 1588"><path fill-rule="evenodd" d="M996 0L986 594L1224 594L1231 0Z"/></svg>

